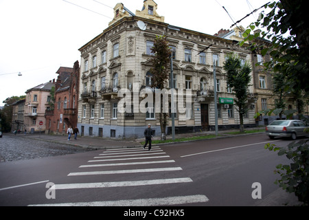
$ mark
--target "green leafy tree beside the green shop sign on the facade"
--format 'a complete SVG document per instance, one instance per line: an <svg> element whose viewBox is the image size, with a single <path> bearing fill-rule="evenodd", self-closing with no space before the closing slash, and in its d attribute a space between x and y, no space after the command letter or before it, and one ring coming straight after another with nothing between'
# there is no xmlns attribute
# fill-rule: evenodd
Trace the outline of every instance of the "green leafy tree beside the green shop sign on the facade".
<svg viewBox="0 0 309 220"><path fill-rule="evenodd" d="M236 54L230 54L225 61L224 69L227 72L227 84L233 88L236 106L240 118L240 132L244 132L244 114L247 111L248 87L251 81L251 66L249 63L242 65Z"/></svg>

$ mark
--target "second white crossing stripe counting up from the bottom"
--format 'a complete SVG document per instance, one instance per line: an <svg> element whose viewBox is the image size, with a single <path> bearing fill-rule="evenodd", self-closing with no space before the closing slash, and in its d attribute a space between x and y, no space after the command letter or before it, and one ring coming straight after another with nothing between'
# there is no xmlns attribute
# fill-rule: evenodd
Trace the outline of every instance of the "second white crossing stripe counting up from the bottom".
<svg viewBox="0 0 309 220"><path fill-rule="evenodd" d="M101 183L84 183L84 184L55 184L50 190L67 190L78 188L108 188L108 187L122 187L122 186L147 186L159 184L177 184L192 182L192 179L187 178L173 178L173 179L150 179L140 181L110 181Z"/></svg>

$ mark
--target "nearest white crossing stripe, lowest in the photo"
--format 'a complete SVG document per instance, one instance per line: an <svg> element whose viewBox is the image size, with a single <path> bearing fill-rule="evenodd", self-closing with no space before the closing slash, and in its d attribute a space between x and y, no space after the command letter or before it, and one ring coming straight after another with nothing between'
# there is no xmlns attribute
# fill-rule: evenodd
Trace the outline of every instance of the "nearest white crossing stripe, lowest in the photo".
<svg viewBox="0 0 309 220"><path fill-rule="evenodd" d="M152 199L128 199L118 201L89 201L77 203L35 204L30 206L173 206L187 203L202 203L209 199L205 195L187 195Z"/></svg>

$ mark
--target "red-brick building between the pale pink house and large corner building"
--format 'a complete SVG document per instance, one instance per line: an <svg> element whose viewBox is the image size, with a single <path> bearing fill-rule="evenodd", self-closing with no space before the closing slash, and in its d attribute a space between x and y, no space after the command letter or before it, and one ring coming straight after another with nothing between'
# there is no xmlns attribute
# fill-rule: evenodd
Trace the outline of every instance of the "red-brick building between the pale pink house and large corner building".
<svg viewBox="0 0 309 220"><path fill-rule="evenodd" d="M45 111L45 133L65 135L69 126L77 126L78 92L80 80L79 62L71 67L60 67L54 90L54 106Z"/></svg>

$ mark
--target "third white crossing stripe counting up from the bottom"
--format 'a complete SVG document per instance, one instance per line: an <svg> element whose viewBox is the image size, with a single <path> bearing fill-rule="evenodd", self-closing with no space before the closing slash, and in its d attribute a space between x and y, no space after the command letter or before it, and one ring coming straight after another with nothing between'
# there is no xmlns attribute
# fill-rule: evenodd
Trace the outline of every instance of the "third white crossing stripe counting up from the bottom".
<svg viewBox="0 0 309 220"><path fill-rule="evenodd" d="M183 170L183 169L181 167L167 167L167 168L146 168L146 169L134 169L134 170L108 170L108 171L69 173L68 176L105 175L105 174L119 174L119 173L146 173L146 172L163 172L163 171L176 171L176 170Z"/></svg>

